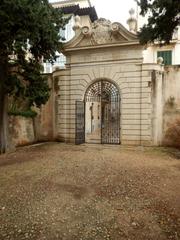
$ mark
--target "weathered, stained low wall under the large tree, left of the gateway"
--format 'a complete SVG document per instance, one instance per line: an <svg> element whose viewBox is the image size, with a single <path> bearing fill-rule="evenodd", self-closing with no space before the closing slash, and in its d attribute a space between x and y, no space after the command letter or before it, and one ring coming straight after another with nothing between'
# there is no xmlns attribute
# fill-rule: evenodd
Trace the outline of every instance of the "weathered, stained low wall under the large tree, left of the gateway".
<svg viewBox="0 0 180 240"><path fill-rule="evenodd" d="M56 89L52 75L48 76L51 88L48 102L40 109L35 109L37 117L9 116L10 144L12 147L41 141L53 141L55 132L55 98Z"/></svg>

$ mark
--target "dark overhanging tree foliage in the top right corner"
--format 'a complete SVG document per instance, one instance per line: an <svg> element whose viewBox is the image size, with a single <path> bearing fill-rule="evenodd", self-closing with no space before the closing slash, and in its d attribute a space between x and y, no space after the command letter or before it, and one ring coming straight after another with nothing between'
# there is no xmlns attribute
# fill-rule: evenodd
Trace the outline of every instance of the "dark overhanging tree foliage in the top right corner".
<svg viewBox="0 0 180 240"><path fill-rule="evenodd" d="M148 16L139 33L140 42L158 41L168 44L175 29L180 25L180 0L137 0L141 15Z"/></svg>

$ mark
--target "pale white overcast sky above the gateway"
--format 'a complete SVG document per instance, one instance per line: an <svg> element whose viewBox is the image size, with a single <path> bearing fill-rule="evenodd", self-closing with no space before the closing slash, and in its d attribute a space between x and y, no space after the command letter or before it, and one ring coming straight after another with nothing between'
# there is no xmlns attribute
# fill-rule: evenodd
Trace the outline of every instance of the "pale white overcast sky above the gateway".
<svg viewBox="0 0 180 240"><path fill-rule="evenodd" d="M50 2L58 2L60 0L49 0ZM95 6L98 17L103 17L112 22L120 22L126 25L129 17L129 10L136 9L135 0L91 0Z"/></svg>

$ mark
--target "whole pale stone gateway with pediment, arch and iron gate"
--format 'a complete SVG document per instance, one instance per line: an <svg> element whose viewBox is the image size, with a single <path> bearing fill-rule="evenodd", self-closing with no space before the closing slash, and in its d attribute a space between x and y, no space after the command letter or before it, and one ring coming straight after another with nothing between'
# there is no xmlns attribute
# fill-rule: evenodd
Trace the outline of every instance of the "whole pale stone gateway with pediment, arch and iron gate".
<svg viewBox="0 0 180 240"><path fill-rule="evenodd" d="M66 68L53 72L57 138L161 144L162 65L143 64L143 46L120 23L98 19L91 26L77 24L75 33L64 45Z"/></svg>

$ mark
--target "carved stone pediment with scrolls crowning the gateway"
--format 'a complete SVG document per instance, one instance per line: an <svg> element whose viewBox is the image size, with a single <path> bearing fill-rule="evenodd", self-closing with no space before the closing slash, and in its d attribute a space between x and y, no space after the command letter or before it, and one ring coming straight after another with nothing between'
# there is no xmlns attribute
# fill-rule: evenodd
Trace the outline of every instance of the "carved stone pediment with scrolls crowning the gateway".
<svg viewBox="0 0 180 240"><path fill-rule="evenodd" d="M100 45L124 44L138 42L137 35L129 32L120 23L111 23L100 18L91 27L76 29L75 37L65 44L65 48L93 47Z"/></svg>

